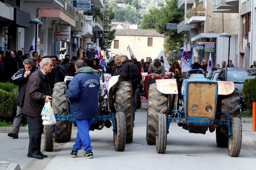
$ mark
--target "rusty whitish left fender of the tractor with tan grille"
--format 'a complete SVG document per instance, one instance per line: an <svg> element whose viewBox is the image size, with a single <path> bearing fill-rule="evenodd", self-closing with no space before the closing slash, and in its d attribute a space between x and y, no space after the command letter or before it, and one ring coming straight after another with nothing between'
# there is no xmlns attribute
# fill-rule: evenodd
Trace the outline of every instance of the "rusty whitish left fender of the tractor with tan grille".
<svg viewBox="0 0 256 170"><path fill-rule="evenodd" d="M163 94L178 94L178 85L176 79L158 79L156 88Z"/></svg>

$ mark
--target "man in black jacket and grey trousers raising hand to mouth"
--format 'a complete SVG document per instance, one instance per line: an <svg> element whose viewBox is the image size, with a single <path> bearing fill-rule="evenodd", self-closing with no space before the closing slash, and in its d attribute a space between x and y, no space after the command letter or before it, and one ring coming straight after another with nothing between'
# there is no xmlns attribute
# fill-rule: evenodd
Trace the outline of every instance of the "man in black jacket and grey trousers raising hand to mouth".
<svg viewBox="0 0 256 170"><path fill-rule="evenodd" d="M28 84L28 78L31 76L33 72L36 71L36 67L34 66L34 61L32 59L25 59L23 61L23 65L24 68L20 69L17 73L15 73L12 76L13 84L19 86L18 95L16 98L17 114L13 120L12 132L8 133L8 136L13 137L14 139L19 138L20 123L23 118L22 109L24 104L24 97L26 94L26 87Z"/></svg>

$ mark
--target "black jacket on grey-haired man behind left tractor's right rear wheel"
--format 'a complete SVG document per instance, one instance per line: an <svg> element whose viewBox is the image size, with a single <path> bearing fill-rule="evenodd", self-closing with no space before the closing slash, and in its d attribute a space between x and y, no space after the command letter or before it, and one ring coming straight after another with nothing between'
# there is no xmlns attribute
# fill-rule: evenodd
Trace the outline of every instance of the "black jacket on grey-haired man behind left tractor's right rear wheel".
<svg viewBox="0 0 256 170"><path fill-rule="evenodd" d="M132 63L132 60L125 60L122 63L122 67L120 68L122 81L128 81L132 83L132 89L136 89L141 80L139 68Z"/></svg>

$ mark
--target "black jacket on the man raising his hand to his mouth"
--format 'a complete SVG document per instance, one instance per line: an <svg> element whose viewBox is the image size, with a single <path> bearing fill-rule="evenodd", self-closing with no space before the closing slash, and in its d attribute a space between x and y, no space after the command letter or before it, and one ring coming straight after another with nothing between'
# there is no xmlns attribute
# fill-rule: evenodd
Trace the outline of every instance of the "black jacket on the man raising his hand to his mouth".
<svg viewBox="0 0 256 170"><path fill-rule="evenodd" d="M36 67L33 66L32 71L30 73L30 75L32 73L34 73L36 71ZM30 75L27 78L24 78L24 73L26 72L26 70L20 69L17 73L15 73L12 76L12 82L14 85L18 85L19 89L18 89L18 95L16 98L16 103L18 106L23 107L23 103L24 103L24 98L25 98L25 90L28 84L28 78L30 77Z"/></svg>

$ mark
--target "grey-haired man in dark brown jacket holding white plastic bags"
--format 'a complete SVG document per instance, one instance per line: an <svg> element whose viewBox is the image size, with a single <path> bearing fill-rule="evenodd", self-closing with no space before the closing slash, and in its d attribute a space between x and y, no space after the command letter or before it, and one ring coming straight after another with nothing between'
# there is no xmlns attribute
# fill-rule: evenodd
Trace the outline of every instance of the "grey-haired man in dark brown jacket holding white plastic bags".
<svg viewBox="0 0 256 170"><path fill-rule="evenodd" d="M44 103L52 101L47 77L47 74L53 69L52 59L44 58L39 64L40 69L29 77L22 112L28 117L28 157L43 159L47 155L41 152L41 135L44 129L41 112Z"/></svg>

